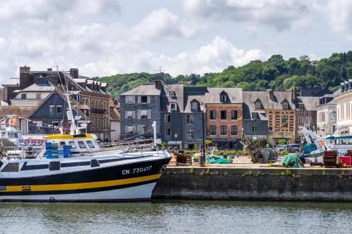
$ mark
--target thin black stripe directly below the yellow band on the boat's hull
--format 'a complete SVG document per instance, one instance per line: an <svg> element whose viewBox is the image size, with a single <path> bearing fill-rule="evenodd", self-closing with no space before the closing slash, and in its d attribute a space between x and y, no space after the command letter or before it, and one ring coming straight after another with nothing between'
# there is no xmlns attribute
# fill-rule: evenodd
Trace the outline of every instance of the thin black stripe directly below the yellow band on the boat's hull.
<svg viewBox="0 0 352 234"><path fill-rule="evenodd" d="M59 195L59 194L77 194L77 193L94 193L108 190L115 190L120 188L132 188L135 186L142 186L148 183L156 183L158 180L143 181L137 183L129 183L120 186L110 186L101 188L86 188L77 190L55 190L55 191L21 191L21 192L0 192L0 200L2 196L25 196L25 195Z"/></svg>

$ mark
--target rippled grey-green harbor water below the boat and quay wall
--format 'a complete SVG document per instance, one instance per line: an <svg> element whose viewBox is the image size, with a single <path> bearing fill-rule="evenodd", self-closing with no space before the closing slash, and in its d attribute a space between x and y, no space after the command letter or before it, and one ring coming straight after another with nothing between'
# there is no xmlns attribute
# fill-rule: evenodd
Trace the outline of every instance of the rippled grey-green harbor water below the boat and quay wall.
<svg viewBox="0 0 352 234"><path fill-rule="evenodd" d="M351 203L0 203L1 233L351 233Z"/></svg>

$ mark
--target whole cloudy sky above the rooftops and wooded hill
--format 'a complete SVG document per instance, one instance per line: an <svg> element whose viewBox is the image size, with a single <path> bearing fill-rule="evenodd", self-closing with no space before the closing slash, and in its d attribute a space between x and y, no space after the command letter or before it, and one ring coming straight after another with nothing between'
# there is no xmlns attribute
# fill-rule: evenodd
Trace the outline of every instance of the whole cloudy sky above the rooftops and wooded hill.
<svg viewBox="0 0 352 234"><path fill-rule="evenodd" d="M0 27L0 84L55 60L87 76L219 72L351 50L352 1L0 0Z"/></svg>

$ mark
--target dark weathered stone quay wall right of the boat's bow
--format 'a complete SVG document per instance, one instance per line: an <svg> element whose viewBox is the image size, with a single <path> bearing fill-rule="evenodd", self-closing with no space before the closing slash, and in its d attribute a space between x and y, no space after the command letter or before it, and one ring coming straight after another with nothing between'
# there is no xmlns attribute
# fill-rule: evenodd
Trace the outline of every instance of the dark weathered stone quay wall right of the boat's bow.
<svg viewBox="0 0 352 234"><path fill-rule="evenodd" d="M151 198L352 202L352 169L168 167Z"/></svg>

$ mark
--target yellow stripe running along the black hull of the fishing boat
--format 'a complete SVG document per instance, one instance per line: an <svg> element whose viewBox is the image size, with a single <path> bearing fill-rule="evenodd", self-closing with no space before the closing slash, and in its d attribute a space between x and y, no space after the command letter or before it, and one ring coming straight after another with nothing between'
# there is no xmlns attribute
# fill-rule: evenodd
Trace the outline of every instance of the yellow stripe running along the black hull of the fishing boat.
<svg viewBox="0 0 352 234"><path fill-rule="evenodd" d="M114 181L97 181L87 183L63 183L53 185L38 185L38 186L6 186L6 190L1 192L22 192L24 190L30 191L57 191L57 190L77 190L85 188L104 188L111 186L122 186L130 183L139 183L145 181L153 181L160 178L161 174L151 176L141 176L136 178L123 178Z"/></svg>

